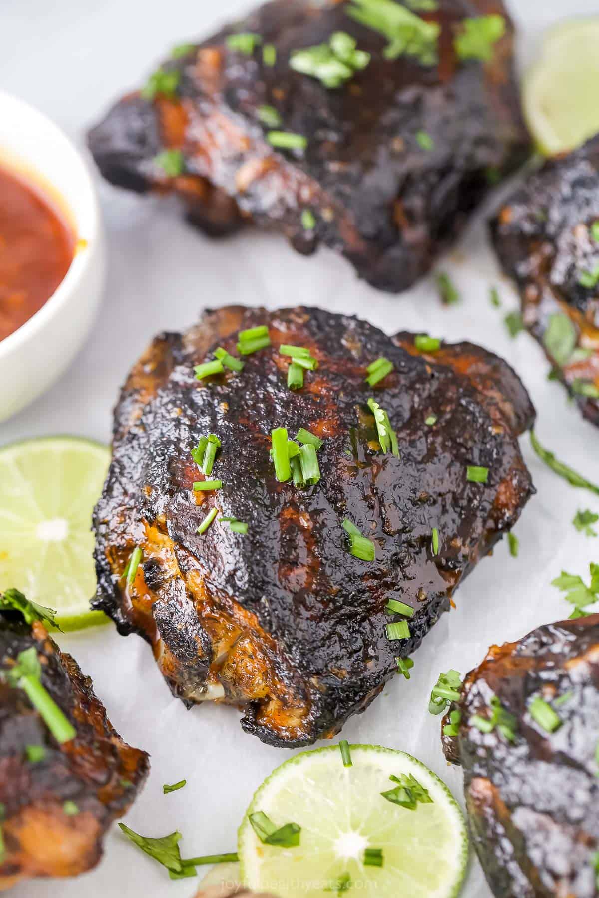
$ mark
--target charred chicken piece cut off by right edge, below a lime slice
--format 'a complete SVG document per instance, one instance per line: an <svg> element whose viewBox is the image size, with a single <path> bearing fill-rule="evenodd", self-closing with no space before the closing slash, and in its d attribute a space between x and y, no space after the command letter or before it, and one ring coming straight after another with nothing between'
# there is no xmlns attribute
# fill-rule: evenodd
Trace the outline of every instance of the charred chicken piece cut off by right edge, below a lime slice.
<svg viewBox="0 0 599 898"><path fill-rule="evenodd" d="M599 136L543 164L491 223L499 261L583 416L599 426Z"/></svg>

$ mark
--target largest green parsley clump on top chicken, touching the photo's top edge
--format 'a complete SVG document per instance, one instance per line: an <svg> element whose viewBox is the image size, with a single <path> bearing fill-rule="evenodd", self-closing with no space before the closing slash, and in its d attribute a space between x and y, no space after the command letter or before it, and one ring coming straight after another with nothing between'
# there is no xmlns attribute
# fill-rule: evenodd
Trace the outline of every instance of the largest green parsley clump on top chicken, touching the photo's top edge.
<svg viewBox="0 0 599 898"><path fill-rule="evenodd" d="M346 13L356 22L378 31L388 41L386 59L414 57L422 66L435 66L441 26L425 22L394 0L351 0Z"/></svg>

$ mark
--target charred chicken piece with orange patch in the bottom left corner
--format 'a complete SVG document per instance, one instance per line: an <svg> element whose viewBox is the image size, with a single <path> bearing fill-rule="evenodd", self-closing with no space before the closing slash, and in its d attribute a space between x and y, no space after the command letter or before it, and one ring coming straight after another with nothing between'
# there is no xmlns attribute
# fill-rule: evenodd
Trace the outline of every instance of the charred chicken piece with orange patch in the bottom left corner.
<svg viewBox="0 0 599 898"><path fill-rule="evenodd" d="M42 686L75 727L75 737L62 744L28 694L6 679L32 647ZM2 890L95 867L105 832L137 797L149 762L110 726L92 681L41 621L29 624L20 612L0 612L0 657Z"/></svg>

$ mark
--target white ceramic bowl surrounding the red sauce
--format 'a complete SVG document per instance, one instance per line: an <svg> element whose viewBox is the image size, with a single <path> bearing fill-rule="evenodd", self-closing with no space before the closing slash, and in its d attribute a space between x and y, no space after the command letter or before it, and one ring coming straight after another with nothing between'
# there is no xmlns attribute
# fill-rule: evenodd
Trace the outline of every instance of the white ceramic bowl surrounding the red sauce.
<svg viewBox="0 0 599 898"><path fill-rule="evenodd" d="M100 207L82 154L46 116L2 91L0 164L56 197L77 240L56 292L19 330L0 340L3 421L48 390L81 348L101 300L105 247Z"/></svg>

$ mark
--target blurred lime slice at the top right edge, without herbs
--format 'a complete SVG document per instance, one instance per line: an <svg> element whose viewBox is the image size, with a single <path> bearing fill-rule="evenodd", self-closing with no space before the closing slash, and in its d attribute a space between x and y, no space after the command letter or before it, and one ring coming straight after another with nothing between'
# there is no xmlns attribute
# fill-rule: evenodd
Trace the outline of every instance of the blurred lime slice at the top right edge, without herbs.
<svg viewBox="0 0 599 898"><path fill-rule="evenodd" d="M524 76L524 117L542 154L572 150L599 131L598 42L599 18L561 22Z"/></svg>

